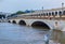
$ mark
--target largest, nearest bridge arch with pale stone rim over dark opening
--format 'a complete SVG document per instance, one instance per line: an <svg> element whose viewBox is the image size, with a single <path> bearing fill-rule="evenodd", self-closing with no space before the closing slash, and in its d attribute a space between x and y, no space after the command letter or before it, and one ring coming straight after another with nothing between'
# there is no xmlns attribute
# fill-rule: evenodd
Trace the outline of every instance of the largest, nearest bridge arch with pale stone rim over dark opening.
<svg viewBox="0 0 65 44"><path fill-rule="evenodd" d="M48 21L41 21L41 20L37 20L37 21L34 21L32 24L31 24L31 26L32 27L39 27L39 26L41 26L41 27L46 27L47 29L53 29L53 26L52 25L49 25L49 23Z"/></svg>

